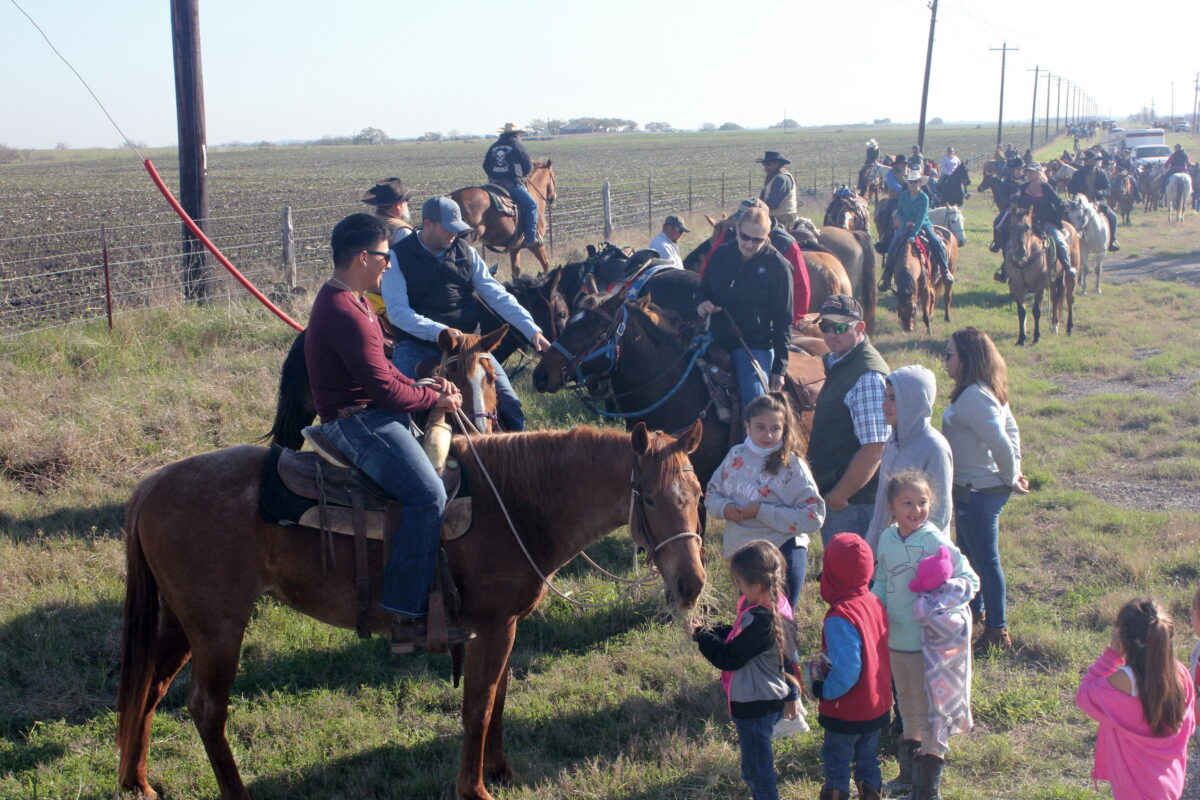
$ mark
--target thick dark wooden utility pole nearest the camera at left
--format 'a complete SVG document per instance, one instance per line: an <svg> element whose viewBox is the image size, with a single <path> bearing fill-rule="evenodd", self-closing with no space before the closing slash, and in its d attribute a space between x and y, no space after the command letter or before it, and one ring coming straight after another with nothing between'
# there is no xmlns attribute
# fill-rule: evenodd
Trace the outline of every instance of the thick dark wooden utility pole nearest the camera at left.
<svg viewBox="0 0 1200 800"><path fill-rule="evenodd" d="M200 71L199 0L170 0L175 54L175 118L179 127L179 199L202 230L208 228L208 145L204 125L204 77ZM205 301L210 275L204 245L184 225L184 297Z"/></svg>

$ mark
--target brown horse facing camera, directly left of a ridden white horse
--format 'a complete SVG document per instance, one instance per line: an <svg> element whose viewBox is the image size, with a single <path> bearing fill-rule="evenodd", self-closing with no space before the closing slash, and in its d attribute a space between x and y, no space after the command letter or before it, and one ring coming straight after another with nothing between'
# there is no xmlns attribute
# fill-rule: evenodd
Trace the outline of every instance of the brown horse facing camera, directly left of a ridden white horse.
<svg viewBox="0 0 1200 800"><path fill-rule="evenodd" d="M1018 344L1025 344L1025 295L1033 295L1033 343L1042 338L1042 297L1050 289L1051 323L1058 332L1063 297L1067 300L1067 333L1075 326L1075 277L1057 269L1057 259L1048 263L1050 253L1033 224L1031 209L1013 205L1009 211L1008 248L1004 251L1004 275L1008 290L1016 301L1020 326ZM1079 234L1069 222L1063 222L1063 234L1070 248L1072 264L1079 264Z"/></svg>

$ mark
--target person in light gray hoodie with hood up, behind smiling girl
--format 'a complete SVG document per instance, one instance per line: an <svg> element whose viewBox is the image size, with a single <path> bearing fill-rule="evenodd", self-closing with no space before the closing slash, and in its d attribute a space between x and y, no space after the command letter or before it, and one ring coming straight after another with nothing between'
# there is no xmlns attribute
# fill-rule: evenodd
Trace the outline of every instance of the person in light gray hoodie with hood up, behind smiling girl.
<svg viewBox="0 0 1200 800"><path fill-rule="evenodd" d="M892 524L887 504L888 479L901 471L919 470L926 475L934 493L929 522L949 535L954 462L949 443L929 423L936 395L937 379L920 365L900 367L887 377L883 416L892 426L892 438L883 446L875 515L866 530L866 543L872 552L878 547L880 534Z"/></svg>

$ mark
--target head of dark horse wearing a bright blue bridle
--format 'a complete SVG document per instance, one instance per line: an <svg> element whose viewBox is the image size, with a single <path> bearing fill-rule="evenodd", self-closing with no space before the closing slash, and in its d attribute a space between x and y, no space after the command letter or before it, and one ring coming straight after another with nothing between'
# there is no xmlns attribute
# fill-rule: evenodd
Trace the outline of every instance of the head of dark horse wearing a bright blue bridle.
<svg viewBox="0 0 1200 800"><path fill-rule="evenodd" d="M617 363L617 344L625 332L624 303L619 294L583 297L534 368L534 389L552 393L570 383L586 384L607 375Z"/></svg>

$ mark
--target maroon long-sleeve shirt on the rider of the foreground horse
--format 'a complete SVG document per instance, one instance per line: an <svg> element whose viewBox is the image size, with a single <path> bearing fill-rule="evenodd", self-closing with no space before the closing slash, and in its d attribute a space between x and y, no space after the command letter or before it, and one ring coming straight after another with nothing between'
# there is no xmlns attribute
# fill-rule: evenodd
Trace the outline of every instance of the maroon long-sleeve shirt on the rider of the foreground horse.
<svg viewBox="0 0 1200 800"><path fill-rule="evenodd" d="M438 399L437 392L418 386L388 361L370 303L329 283L312 303L304 354L322 422L349 405L424 411Z"/></svg>

